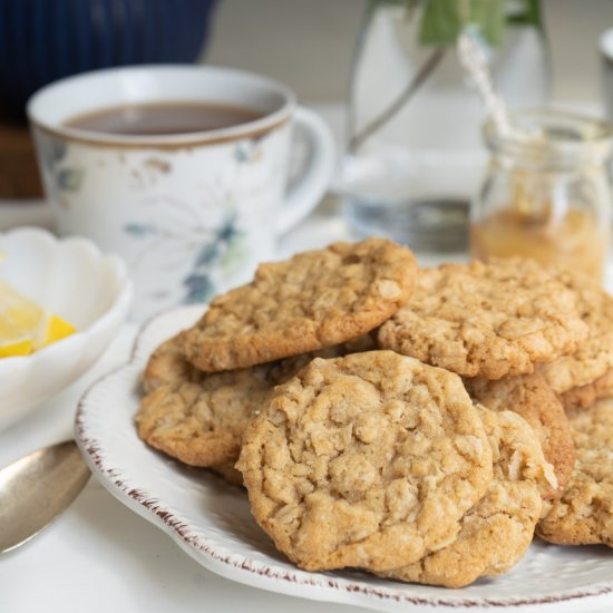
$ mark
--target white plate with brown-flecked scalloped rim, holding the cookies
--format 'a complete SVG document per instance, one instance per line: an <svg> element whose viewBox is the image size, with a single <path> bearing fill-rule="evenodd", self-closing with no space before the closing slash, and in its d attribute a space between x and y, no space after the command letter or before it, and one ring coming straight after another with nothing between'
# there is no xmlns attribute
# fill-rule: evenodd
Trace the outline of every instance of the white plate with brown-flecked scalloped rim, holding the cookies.
<svg viewBox="0 0 613 613"><path fill-rule="evenodd" d="M510 573L464 590L402 584L357 571L308 573L289 563L252 518L244 492L206 470L168 459L136 436L133 420L147 357L201 312L202 306L185 306L149 322L130 362L84 396L75 425L79 447L103 485L166 532L196 562L254 587L379 611L613 610L613 552L605 547L536 542Z"/></svg>

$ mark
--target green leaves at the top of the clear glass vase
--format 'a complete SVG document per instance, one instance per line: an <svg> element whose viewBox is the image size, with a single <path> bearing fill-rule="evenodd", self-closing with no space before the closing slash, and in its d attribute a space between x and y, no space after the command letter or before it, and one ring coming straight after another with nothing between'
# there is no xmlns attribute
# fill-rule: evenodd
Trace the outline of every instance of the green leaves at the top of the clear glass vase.
<svg viewBox="0 0 613 613"><path fill-rule="evenodd" d="M430 47L450 47L470 26L492 46L503 41L504 0L425 0L419 42Z"/></svg>

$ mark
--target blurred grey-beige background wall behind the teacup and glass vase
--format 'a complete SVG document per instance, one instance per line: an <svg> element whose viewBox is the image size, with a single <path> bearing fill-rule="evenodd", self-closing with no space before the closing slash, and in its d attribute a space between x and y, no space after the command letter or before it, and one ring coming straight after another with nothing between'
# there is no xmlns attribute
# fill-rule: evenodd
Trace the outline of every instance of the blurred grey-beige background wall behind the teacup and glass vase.
<svg viewBox="0 0 613 613"><path fill-rule="evenodd" d="M342 100L366 0L220 0L205 61L265 72L303 100ZM613 0L544 0L554 98L600 97L597 39Z"/></svg>

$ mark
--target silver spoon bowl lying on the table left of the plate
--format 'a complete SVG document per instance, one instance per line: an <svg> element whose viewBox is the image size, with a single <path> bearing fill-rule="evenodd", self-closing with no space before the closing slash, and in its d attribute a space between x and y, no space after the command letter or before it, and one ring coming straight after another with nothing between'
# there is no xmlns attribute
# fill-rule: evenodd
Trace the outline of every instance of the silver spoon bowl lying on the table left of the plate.
<svg viewBox="0 0 613 613"><path fill-rule="evenodd" d="M48 526L89 479L74 440L38 449L0 470L0 553Z"/></svg>

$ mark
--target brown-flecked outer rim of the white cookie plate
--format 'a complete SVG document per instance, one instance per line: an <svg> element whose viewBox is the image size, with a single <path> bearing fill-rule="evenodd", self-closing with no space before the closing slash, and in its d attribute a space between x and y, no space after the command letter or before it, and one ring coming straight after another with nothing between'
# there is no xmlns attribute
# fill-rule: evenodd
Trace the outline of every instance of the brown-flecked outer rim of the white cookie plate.
<svg viewBox="0 0 613 613"><path fill-rule="evenodd" d="M202 312L203 304L173 308L157 313L142 325L132 344L128 360L94 381L79 399L74 430L76 441L98 481L130 510L168 534L182 549L201 565L231 581L257 588L295 596L295 588L298 587L301 597L356 606L374 606L377 603L390 602L399 605L445 607L456 611L488 607L525 610L525 607L534 606L548 609L548 605L568 604L587 599L597 599L600 601L602 597L613 594L613 580L611 580L609 582L594 583L584 588L576 587L562 591L555 595L549 594L534 597L507 596L496 599L483 596L446 597L444 595L418 595L395 588L393 586L369 586L364 584L364 581L332 577L322 573L309 573L300 568L289 572L276 565L250 560L244 554L232 552L220 553L215 545L208 542L206 536L189 534L191 524L181 517L179 512L173 509L172 504L163 502L152 493L132 485L129 476L125 474L123 468L108 466L105 458L104 444L100 444L100 441L88 435L87 411L90 397L100 387L108 386L109 382L111 385L115 379L119 379L124 374L130 374L130 371L136 371L140 368L142 347L146 344L147 335L163 320L178 312L185 317L187 311L193 310L195 314L196 306ZM134 374L137 376L137 372ZM200 555L196 556L196 554ZM354 600L356 596L359 596L360 600Z"/></svg>

